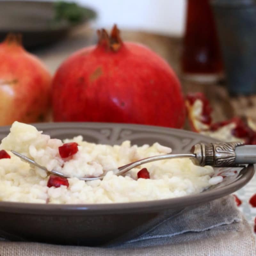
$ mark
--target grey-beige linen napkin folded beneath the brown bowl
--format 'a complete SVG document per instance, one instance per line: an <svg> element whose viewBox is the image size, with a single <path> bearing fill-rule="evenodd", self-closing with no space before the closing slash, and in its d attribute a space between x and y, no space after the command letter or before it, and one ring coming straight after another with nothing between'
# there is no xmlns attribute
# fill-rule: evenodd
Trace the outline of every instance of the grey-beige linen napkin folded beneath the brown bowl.
<svg viewBox="0 0 256 256"><path fill-rule="evenodd" d="M133 256L133 255L256 255L256 241L233 196L168 211L144 234L129 234L104 247L64 246L30 242L0 242L1 256Z"/></svg>

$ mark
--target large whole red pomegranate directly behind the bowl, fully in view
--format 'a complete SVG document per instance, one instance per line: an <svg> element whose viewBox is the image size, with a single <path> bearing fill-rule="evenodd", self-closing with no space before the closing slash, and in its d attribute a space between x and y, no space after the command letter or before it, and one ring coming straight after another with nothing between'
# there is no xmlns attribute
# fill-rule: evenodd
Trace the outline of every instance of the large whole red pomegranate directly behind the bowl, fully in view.
<svg viewBox="0 0 256 256"><path fill-rule="evenodd" d="M185 105L172 68L147 47L98 31L96 46L70 56L52 82L54 121L150 124L181 128Z"/></svg>

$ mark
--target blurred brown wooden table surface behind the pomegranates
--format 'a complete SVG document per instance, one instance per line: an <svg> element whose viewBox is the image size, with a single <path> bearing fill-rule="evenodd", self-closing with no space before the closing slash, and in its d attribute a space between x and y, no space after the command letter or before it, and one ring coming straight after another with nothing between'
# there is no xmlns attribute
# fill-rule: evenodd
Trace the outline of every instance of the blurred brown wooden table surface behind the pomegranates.
<svg viewBox="0 0 256 256"><path fill-rule="evenodd" d="M230 97L225 82L221 84L199 84L182 79L180 71L180 56L182 51L182 38L156 35L140 31L121 31L125 41L134 41L147 45L162 56L172 66L180 78L184 94L188 92L204 92L213 107L213 120L221 121L233 116L250 116L256 120L256 95ZM61 42L44 50L34 52L54 73L60 63L71 53L84 46L96 44L96 31L88 26L81 26L74 30ZM188 128L188 127L186 127Z"/></svg>

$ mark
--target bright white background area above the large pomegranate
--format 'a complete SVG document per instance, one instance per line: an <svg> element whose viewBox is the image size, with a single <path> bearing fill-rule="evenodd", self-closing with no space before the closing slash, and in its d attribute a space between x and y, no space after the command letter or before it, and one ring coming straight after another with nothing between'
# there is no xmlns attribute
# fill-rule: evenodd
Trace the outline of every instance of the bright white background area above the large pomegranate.
<svg viewBox="0 0 256 256"><path fill-rule="evenodd" d="M146 30L166 35L184 33L186 0L66 1L94 8L98 12L98 19L93 23L95 28L111 28L117 23L121 29Z"/></svg>

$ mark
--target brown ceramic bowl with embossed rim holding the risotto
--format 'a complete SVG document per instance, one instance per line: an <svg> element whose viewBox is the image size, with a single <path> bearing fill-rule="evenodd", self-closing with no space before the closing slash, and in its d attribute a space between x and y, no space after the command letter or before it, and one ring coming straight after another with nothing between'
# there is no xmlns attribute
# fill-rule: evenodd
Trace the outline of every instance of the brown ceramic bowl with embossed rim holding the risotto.
<svg viewBox="0 0 256 256"><path fill-rule="evenodd" d="M156 141L169 146L173 152L188 152L198 142L212 138L193 132L156 126L110 123L48 123L36 124L52 137L64 139L82 134L84 140L120 144L152 144ZM10 127L0 127L0 139ZM232 170L231 170L232 169ZM222 168L228 173L234 168ZM237 170L237 169L236 169ZM163 211L177 213L183 208L228 195L243 187L253 176L253 165L224 178L223 182L196 195L178 198L117 204L27 204L0 202L0 236L12 240L39 241L54 244L100 245L137 230L145 232ZM215 174L219 169L215 169ZM233 172L234 173L234 172ZM223 174L225 175L225 174Z"/></svg>

